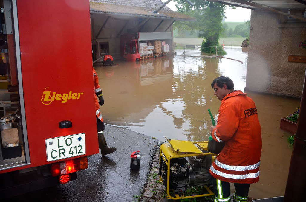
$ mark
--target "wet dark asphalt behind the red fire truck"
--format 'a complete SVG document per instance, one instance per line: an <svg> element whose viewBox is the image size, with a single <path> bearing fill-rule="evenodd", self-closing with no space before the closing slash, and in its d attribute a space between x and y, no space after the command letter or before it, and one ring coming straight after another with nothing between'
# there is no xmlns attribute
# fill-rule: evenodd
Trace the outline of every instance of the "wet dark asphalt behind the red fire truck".
<svg viewBox="0 0 306 202"><path fill-rule="evenodd" d="M88 169L79 171L77 179L65 185L27 193L11 198L13 201L137 201L133 195L140 195L147 184L152 158L149 151L158 144L157 139L147 135L105 126L108 146L116 146L117 151L102 157L95 154L88 157ZM140 150L139 171L130 171L130 154Z"/></svg>

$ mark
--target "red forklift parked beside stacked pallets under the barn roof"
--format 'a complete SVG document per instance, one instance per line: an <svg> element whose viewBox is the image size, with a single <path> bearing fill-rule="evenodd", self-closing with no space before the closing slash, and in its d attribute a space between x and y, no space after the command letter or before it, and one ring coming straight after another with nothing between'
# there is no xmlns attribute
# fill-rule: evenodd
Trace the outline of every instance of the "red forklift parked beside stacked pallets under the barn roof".
<svg viewBox="0 0 306 202"><path fill-rule="evenodd" d="M136 39L132 34L123 34L120 37L120 44L121 56L125 58L127 62L140 61L138 39Z"/></svg>

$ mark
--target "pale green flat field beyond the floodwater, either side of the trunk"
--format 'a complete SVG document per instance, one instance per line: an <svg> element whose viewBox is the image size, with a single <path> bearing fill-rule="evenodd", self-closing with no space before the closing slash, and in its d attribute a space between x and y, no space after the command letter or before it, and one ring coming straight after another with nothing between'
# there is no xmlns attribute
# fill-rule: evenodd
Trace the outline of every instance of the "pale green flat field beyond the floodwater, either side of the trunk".
<svg viewBox="0 0 306 202"><path fill-rule="evenodd" d="M227 37L227 38L220 38L219 43L220 45L223 44L225 46L231 46L233 41L233 46L241 46L242 41L244 40L244 37ZM185 46L185 45L201 45L203 41L203 38L174 38L174 42L177 45Z"/></svg>

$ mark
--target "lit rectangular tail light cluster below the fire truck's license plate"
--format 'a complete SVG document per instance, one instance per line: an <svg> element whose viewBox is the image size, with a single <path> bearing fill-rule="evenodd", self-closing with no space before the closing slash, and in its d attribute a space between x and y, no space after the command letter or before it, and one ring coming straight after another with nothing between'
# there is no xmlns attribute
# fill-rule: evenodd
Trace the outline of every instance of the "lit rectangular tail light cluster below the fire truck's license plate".
<svg viewBox="0 0 306 202"><path fill-rule="evenodd" d="M88 168L87 157L62 161L51 165L51 175L59 176Z"/></svg>

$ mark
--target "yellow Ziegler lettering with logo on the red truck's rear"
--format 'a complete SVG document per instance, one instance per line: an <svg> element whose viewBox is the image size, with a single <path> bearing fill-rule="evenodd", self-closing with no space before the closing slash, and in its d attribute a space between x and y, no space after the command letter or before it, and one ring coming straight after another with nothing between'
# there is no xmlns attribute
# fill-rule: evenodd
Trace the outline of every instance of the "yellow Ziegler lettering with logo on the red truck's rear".
<svg viewBox="0 0 306 202"><path fill-rule="evenodd" d="M41 102L44 105L49 105L53 101L61 101L61 103L66 103L69 99L80 99L81 95L83 95L82 92L73 93L72 91L69 91L69 93L60 94L51 91L44 91L43 96L41 97Z"/></svg>

